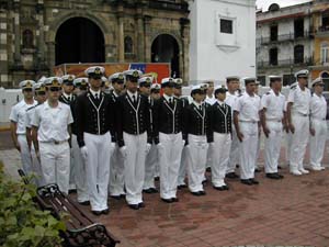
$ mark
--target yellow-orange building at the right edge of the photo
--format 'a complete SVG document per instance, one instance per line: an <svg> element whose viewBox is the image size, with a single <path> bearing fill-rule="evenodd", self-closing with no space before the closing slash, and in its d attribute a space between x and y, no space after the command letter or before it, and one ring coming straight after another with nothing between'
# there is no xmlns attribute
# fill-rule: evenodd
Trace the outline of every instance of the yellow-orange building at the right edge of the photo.
<svg viewBox="0 0 329 247"><path fill-rule="evenodd" d="M315 0L311 9L314 29L314 65L311 79L324 78L325 90L329 91L329 3Z"/></svg>

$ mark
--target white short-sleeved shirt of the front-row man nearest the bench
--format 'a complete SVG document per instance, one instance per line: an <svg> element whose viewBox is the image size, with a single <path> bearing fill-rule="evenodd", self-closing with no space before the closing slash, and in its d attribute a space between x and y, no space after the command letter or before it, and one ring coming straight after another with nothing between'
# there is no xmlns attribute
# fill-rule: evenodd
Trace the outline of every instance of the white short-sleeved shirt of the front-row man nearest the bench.
<svg viewBox="0 0 329 247"><path fill-rule="evenodd" d="M64 142L69 138L67 126L73 123L70 106L58 102L52 108L48 101L35 108L32 125L37 126L39 142Z"/></svg>

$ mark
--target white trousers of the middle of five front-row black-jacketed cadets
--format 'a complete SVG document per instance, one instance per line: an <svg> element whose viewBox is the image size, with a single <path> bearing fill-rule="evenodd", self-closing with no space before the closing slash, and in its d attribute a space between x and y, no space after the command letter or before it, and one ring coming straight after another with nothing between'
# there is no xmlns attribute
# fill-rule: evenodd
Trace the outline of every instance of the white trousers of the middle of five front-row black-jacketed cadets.
<svg viewBox="0 0 329 247"><path fill-rule="evenodd" d="M177 197L177 182L184 141L182 133L159 133L158 154L160 162L160 197Z"/></svg>

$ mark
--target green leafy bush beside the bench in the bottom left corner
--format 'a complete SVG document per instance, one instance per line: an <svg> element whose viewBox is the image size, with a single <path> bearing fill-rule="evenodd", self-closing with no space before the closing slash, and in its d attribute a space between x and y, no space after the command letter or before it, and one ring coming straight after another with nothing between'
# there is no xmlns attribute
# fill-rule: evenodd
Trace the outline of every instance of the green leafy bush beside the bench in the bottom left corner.
<svg viewBox="0 0 329 247"><path fill-rule="evenodd" d="M8 178L0 161L0 246L60 246L59 231L65 231L65 224L37 207L32 200L35 193L34 184Z"/></svg>

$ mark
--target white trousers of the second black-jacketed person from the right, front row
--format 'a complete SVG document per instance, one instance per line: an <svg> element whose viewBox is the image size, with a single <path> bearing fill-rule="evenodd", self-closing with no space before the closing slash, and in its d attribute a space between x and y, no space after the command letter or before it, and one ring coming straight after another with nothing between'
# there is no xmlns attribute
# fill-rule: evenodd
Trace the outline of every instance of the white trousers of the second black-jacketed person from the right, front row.
<svg viewBox="0 0 329 247"><path fill-rule="evenodd" d="M188 145L188 176L191 192L203 191L202 181L207 162L207 138L204 135L189 134Z"/></svg>

